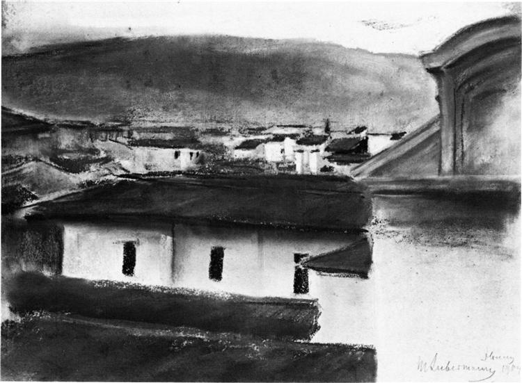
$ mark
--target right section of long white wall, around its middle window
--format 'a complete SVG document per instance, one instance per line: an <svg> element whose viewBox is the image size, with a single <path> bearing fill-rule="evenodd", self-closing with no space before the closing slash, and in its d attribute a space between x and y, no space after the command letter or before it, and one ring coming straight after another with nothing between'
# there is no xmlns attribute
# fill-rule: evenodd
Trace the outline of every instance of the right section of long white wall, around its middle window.
<svg viewBox="0 0 522 383"><path fill-rule="evenodd" d="M176 286L253 296L294 296L294 253L346 246L347 234L175 225ZM210 251L225 247L223 279L209 279Z"/></svg>

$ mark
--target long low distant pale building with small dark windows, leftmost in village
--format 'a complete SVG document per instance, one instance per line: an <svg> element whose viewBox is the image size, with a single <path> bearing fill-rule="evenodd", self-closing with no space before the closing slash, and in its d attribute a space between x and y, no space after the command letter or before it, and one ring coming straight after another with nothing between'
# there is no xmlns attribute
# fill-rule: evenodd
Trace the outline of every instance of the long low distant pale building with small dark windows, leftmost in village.
<svg viewBox="0 0 522 383"><path fill-rule="evenodd" d="M129 140L133 172L169 172L196 168L203 146L196 140Z"/></svg>

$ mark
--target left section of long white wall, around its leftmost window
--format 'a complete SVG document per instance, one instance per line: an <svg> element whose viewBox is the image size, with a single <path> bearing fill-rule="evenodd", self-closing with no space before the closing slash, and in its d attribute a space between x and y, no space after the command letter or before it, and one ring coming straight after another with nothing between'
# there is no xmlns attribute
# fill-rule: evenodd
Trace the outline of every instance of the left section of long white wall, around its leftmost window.
<svg viewBox="0 0 522 383"><path fill-rule="evenodd" d="M172 284L171 225L65 223L63 275L142 284ZM122 273L123 243L136 242L134 277Z"/></svg>

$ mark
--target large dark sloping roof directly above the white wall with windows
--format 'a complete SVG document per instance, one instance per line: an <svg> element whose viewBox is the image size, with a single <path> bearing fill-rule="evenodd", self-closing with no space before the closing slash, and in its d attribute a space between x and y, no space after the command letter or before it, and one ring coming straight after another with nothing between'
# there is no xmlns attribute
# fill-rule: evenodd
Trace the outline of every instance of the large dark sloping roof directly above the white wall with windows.
<svg viewBox="0 0 522 383"><path fill-rule="evenodd" d="M317 198L303 199L299 190L326 195L325 209L306 214L317 207ZM140 222L244 222L344 231L363 227L369 219L370 200L362 197L365 193L365 188L349 177L208 174L120 181L42 202L29 215L83 222L134 217Z"/></svg>

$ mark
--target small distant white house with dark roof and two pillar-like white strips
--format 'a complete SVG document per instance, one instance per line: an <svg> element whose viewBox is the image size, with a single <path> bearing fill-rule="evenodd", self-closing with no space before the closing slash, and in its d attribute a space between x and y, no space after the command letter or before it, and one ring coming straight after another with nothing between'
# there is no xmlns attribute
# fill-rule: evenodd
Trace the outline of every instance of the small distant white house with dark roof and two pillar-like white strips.
<svg viewBox="0 0 522 383"><path fill-rule="evenodd" d="M306 136L296 141L294 150L296 173L317 174L325 165L324 149L328 136Z"/></svg>

